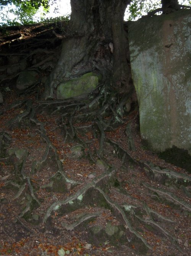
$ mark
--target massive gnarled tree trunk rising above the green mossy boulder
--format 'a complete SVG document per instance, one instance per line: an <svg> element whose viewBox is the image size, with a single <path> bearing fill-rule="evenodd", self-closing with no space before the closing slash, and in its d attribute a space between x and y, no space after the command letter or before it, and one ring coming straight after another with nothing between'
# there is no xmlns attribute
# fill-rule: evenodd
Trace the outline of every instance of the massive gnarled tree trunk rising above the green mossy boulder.
<svg viewBox="0 0 191 256"><path fill-rule="evenodd" d="M46 98L61 81L98 71L117 91L131 88L123 16L130 0L71 0L71 20L60 59L49 77ZM122 88L122 89L121 89Z"/></svg>

